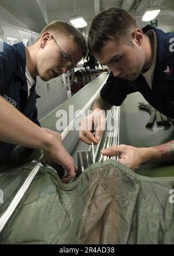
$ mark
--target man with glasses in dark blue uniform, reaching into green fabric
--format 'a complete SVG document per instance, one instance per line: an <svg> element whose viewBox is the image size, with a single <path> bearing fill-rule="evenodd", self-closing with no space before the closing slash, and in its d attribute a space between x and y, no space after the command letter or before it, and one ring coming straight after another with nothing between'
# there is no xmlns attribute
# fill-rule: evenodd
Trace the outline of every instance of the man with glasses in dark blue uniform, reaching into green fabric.
<svg viewBox="0 0 174 256"><path fill-rule="evenodd" d="M69 182L74 176L73 158L55 131L41 128L37 119L36 76L48 81L74 66L86 56L86 41L81 32L66 22L52 22L37 40L25 48L3 43L0 52L0 162L16 145L44 150L46 161L62 165ZM37 124L37 125L36 125Z"/></svg>

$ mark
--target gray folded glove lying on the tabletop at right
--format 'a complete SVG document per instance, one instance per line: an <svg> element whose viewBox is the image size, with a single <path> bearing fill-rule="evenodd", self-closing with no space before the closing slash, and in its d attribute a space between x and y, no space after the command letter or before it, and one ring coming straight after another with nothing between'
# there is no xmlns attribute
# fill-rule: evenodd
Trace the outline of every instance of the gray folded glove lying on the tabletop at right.
<svg viewBox="0 0 174 256"><path fill-rule="evenodd" d="M148 122L146 124L146 127L152 127L155 118L157 119L157 125L164 125L164 126L171 126L171 123L169 122L168 118L157 111L153 106L150 104L145 104L144 102L138 102L139 109L144 109L150 113L150 118L148 119Z"/></svg>

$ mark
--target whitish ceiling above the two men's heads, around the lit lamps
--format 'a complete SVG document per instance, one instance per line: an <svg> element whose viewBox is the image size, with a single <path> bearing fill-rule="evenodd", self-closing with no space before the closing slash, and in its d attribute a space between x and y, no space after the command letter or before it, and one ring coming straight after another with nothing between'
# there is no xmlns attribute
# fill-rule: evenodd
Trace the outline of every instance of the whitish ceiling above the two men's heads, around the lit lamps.
<svg viewBox="0 0 174 256"><path fill-rule="evenodd" d="M70 17L75 15L82 15L89 26L92 18L100 10L111 6L121 8L123 3L126 8L126 3L131 2L132 5L128 7L129 12L136 17L140 26L144 26L145 23L141 22L141 18L146 6L145 0L0 0L0 5L26 24L29 29L39 33L46 23L53 20L69 22ZM152 2L155 5L160 4L162 9L158 15L158 27L165 31L174 31L174 1L153 0Z"/></svg>

